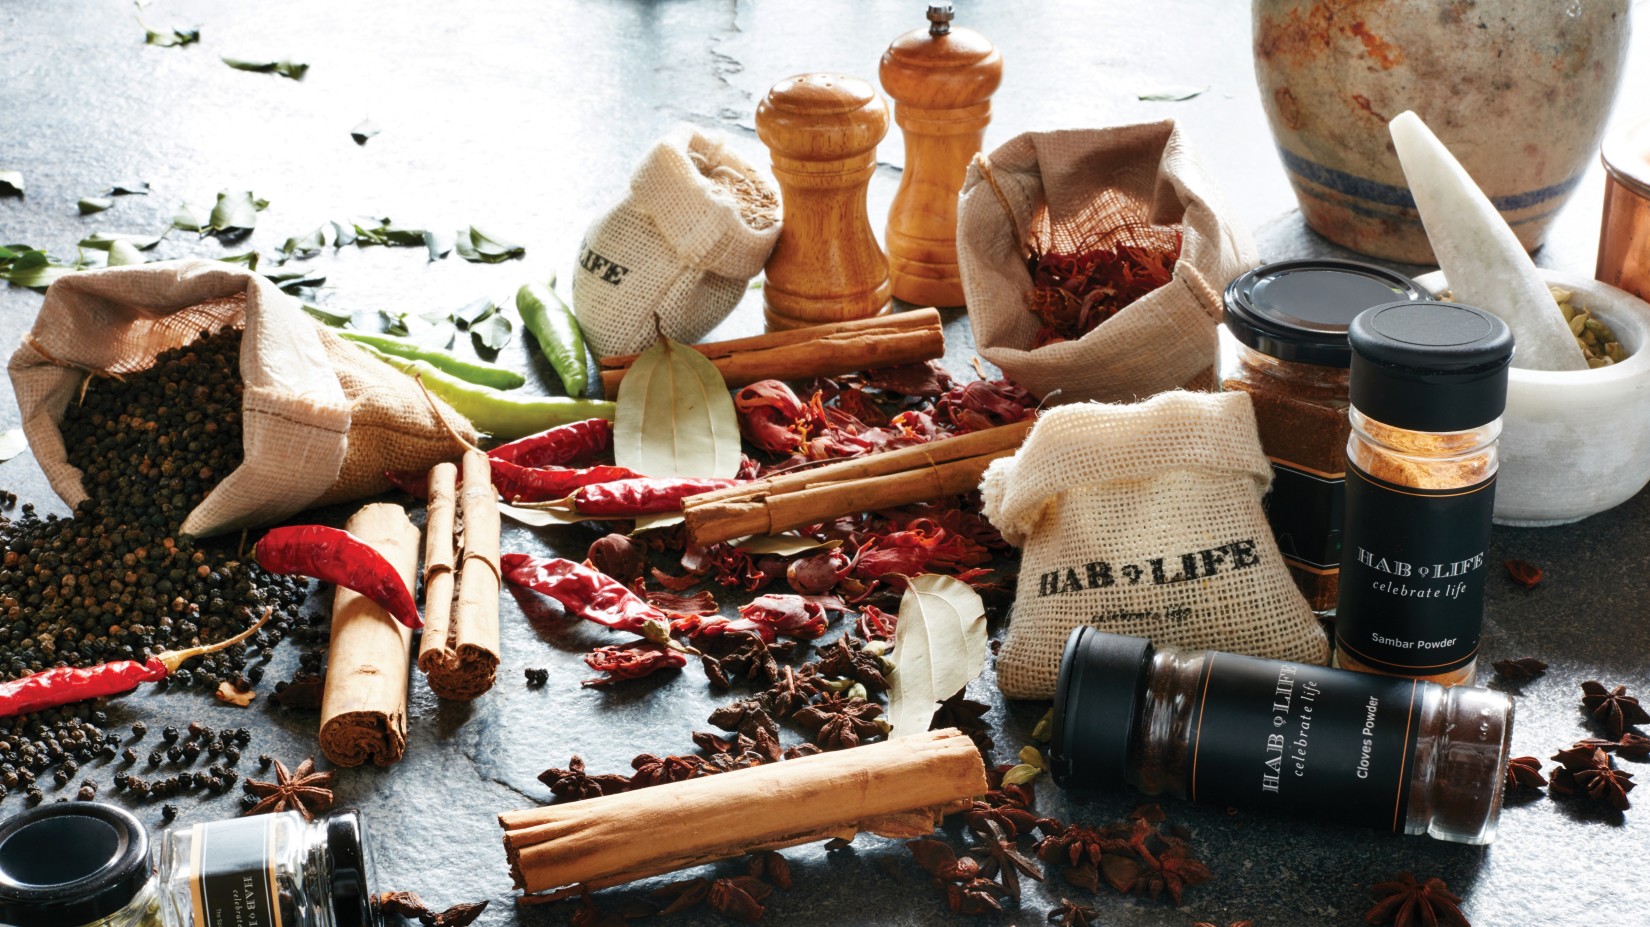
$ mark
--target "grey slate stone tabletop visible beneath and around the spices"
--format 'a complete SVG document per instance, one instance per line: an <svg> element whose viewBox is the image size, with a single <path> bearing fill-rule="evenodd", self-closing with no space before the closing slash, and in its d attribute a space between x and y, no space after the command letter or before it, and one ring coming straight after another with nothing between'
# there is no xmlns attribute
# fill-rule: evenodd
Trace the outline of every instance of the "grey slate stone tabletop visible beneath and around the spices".
<svg viewBox="0 0 1650 927"><path fill-rule="evenodd" d="M356 214L393 216L414 228L475 223L526 246L525 259L498 266L455 257L426 262L422 249L381 247L328 251L302 264L327 275L330 305L391 312L503 300L525 280L566 279L584 228L620 196L637 158L672 124L723 129L739 152L766 163L752 112L767 86L800 71L874 78L886 43L922 25L921 3L853 0L158 0L140 7L124 0L0 5L0 86L7 89L0 170L21 170L28 183L25 198L0 198L0 241L73 257L74 242L92 231L157 234L178 203L210 205L218 190L249 188L271 203L249 242L172 234L148 256L214 257L256 247L269 257L287 236ZM987 148L1030 129L1173 117L1224 186L1238 219L1257 231L1262 257L1335 252L1294 209L1254 86L1247 5L1006 0L959 7L959 23L988 35L1006 63ZM201 41L145 46L139 18L155 28L198 25ZM300 82L287 81L229 69L219 56L292 58L310 71ZM1183 102L1137 99L1165 86L1208 91ZM1617 119L1645 106L1645 86L1650 41L1640 35ZM368 117L383 132L356 145L350 129ZM878 234L899 178L898 132L883 144L879 162L870 193ZM76 200L124 180L147 180L153 191L119 198L101 214L78 214ZM1543 264L1591 271L1600 186L1594 168L1538 254ZM31 290L0 289L0 341L18 343L40 300ZM960 374L974 353L967 318L952 312L947 320L947 363ZM759 294L752 292L713 336L759 325ZM530 369L528 389L553 389L546 388L553 376L525 338L515 338L502 363ZM16 424L8 393L0 427ZM0 483L43 511L64 510L28 454L0 465ZM320 513L333 521L342 516L343 510ZM581 528L507 526L503 544L581 558L591 539ZM1498 528L1492 546L1493 562L1521 558L1546 569L1533 591L1492 577L1483 638L1488 660L1538 655L1551 663L1544 678L1516 693L1513 737L1515 754L1544 757L1589 734L1577 711L1579 681L1650 685L1650 622L1643 620L1650 500L1640 495L1564 528ZM1000 635L1003 615L993 619ZM503 628L497 689L474 704L444 704L414 678L406 762L338 770L338 795L368 818L381 887L419 891L439 906L492 899L482 919L488 925L561 924L571 907L512 901L493 815L548 800L535 775L564 765L571 754L584 755L594 770L617 772L639 752L681 752L718 699L696 670L581 689L579 656L604 633L538 612L525 615L510 597ZM267 678L285 678L294 663L295 648L280 647ZM549 668L551 685L525 688L528 666ZM990 671L970 694L993 704L998 760L1028 741L1046 708L1005 703ZM315 749L314 716L280 713L267 698L241 711L200 696L142 694L116 701L111 714L117 724L195 718L249 724L252 754L300 759ZM109 774L92 770L94 777ZM1068 797L1043 782L1038 800L1058 816L1104 823L1127 813L1138 797ZM180 805L173 826L236 812L233 795ZM134 810L162 828L158 803ZM1109 892L1097 904L1104 924L1351 925L1361 922L1371 881L1409 869L1447 879L1480 927L1647 925L1645 813L1597 813L1536 798L1506 808L1493 846L1468 848L1173 802L1172 818L1191 828L1216 879L1191 889L1180 909ZM797 887L772 897L772 924L939 924L950 917L896 843L861 838L848 851L807 848L790 856ZM884 869L883 858L894 864ZM742 864L716 871L742 871ZM1079 889L1038 886L998 920L1041 924L1059 896L1084 897ZM700 911L678 922L721 919Z"/></svg>

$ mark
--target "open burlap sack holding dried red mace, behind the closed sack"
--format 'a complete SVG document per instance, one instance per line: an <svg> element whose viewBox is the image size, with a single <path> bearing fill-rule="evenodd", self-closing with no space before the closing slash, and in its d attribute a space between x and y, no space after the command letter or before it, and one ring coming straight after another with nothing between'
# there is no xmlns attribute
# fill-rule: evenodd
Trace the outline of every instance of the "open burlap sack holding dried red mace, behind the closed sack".
<svg viewBox="0 0 1650 927"><path fill-rule="evenodd" d="M1030 350L1040 323L1026 312L1028 247L1150 244L1167 229L1183 236L1168 284L1076 341ZM1256 264L1249 233L1173 120L1026 132L975 157L962 183L957 266L974 338L1038 396L1122 402L1213 389L1221 289Z"/></svg>

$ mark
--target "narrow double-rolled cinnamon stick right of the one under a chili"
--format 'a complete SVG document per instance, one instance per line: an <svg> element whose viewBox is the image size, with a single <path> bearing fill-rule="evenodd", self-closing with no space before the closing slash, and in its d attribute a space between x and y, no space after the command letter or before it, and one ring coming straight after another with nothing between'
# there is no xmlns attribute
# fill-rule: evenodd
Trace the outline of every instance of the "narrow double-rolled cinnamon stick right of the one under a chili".
<svg viewBox="0 0 1650 927"><path fill-rule="evenodd" d="M455 480L452 464L429 472L417 666L432 693L469 701L493 688L498 675L498 496L480 450L464 455L462 495ZM454 549L455 508L464 518L462 558Z"/></svg>

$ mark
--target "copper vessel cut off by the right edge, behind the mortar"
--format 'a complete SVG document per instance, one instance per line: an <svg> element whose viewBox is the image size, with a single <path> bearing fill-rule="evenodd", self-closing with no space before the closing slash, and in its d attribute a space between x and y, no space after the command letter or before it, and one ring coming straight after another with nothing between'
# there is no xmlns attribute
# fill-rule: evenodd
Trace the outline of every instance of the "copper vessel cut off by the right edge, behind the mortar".
<svg viewBox="0 0 1650 927"><path fill-rule="evenodd" d="M1594 277L1650 300L1650 119L1604 139L1604 228Z"/></svg>

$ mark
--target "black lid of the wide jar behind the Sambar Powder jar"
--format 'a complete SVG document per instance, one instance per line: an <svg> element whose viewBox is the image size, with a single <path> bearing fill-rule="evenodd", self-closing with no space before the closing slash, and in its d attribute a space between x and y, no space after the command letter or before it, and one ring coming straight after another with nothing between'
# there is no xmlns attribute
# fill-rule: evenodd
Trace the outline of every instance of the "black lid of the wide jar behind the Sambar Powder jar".
<svg viewBox="0 0 1650 927"><path fill-rule="evenodd" d="M1226 285L1226 328L1282 361L1351 366L1346 327L1371 305L1426 300L1409 277L1356 261L1280 261Z"/></svg>

